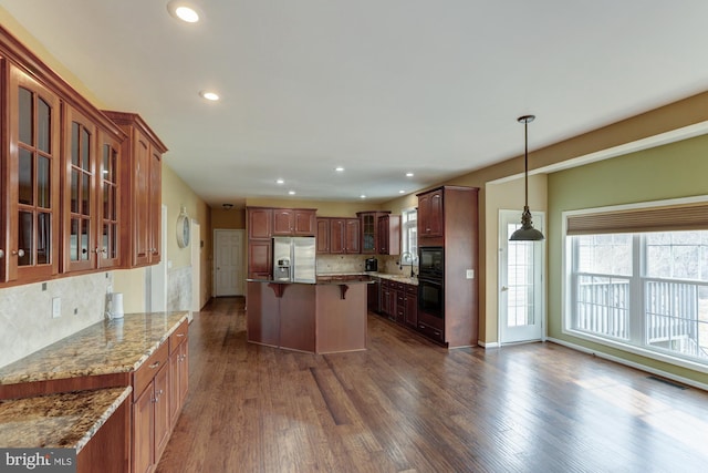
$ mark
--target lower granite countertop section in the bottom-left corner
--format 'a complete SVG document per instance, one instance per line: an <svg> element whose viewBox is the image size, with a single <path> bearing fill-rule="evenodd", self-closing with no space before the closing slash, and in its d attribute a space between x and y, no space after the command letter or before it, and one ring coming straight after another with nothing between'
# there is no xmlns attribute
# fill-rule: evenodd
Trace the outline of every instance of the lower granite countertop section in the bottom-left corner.
<svg viewBox="0 0 708 473"><path fill-rule="evenodd" d="M131 391L110 388L0 401L0 445L79 453Z"/></svg>

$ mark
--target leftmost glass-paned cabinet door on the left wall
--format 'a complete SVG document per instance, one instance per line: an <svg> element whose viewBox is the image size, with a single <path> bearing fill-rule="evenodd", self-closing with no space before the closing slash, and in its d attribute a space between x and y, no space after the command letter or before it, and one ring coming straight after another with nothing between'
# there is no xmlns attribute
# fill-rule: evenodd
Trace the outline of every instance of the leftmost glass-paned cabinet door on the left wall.
<svg viewBox="0 0 708 473"><path fill-rule="evenodd" d="M14 68L9 86L11 228L3 280L51 276L59 268L59 100Z"/></svg>

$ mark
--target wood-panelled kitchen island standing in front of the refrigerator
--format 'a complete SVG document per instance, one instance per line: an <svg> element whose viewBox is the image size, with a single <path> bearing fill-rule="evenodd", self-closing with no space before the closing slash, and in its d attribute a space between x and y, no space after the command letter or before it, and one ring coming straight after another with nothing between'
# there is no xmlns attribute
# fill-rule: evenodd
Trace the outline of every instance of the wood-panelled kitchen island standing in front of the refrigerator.
<svg viewBox="0 0 708 473"><path fill-rule="evenodd" d="M311 353L366 349L367 276L316 282L249 279L247 337L252 343Z"/></svg>

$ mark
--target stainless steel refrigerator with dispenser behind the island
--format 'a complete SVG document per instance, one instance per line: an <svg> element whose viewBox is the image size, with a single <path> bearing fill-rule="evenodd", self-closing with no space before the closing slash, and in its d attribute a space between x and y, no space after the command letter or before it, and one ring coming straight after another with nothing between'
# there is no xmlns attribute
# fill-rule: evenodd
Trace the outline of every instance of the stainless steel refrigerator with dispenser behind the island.
<svg viewBox="0 0 708 473"><path fill-rule="evenodd" d="M273 237L273 279L315 282L314 237Z"/></svg>

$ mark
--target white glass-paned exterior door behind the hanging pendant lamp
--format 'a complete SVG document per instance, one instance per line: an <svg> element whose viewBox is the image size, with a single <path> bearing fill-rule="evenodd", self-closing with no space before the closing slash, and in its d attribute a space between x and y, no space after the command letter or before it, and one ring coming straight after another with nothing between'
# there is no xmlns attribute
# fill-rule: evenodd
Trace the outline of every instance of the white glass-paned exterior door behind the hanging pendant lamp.
<svg viewBox="0 0 708 473"><path fill-rule="evenodd" d="M544 232L544 215L532 212L534 228ZM520 210L499 213L499 341L542 340L544 325L543 241L509 241L521 226Z"/></svg>

